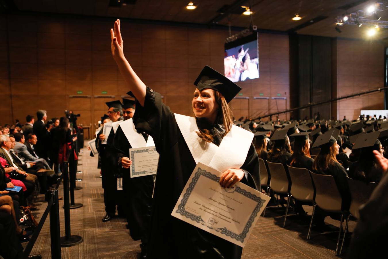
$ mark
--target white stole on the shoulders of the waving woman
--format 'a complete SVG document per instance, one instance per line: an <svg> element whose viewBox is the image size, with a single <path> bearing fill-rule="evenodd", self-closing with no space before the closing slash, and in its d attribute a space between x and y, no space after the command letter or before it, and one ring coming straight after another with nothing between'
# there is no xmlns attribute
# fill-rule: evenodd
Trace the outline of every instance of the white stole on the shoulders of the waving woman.
<svg viewBox="0 0 388 259"><path fill-rule="evenodd" d="M253 140L252 132L232 125L220 146L217 146L198 137L196 118L174 114L180 132L196 163L201 162L220 172L229 168L240 168L244 164Z"/></svg>

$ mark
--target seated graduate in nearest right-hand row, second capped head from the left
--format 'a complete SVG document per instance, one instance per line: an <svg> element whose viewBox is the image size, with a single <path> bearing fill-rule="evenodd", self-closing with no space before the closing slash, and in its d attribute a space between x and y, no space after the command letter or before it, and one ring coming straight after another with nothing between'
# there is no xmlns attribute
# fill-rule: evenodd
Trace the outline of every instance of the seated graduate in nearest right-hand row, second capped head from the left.
<svg viewBox="0 0 388 259"><path fill-rule="evenodd" d="M282 163L287 170L287 161L292 155L292 150L287 136L287 130L277 130L271 137L274 142L272 149L268 152L268 161L272 163Z"/></svg>

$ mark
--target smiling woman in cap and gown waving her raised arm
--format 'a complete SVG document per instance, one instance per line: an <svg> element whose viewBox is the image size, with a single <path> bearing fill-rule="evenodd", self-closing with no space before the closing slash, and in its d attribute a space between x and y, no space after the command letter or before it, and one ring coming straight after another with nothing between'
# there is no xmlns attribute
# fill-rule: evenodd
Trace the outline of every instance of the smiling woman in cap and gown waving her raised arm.
<svg viewBox="0 0 388 259"><path fill-rule="evenodd" d="M180 221L171 212L198 162L223 172L220 185L224 188L237 181L255 187L255 181L248 181L252 174L260 179L253 134L232 124L227 104L241 88L205 66L193 87L195 117L174 114L125 59L119 21L111 30L111 38L113 57L137 99L133 122L137 130L153 138L160 155L147 258L240 258L241 247ZM235 141L239 144L232 144ZM211 160L217 160L217 165Z"/></svg>

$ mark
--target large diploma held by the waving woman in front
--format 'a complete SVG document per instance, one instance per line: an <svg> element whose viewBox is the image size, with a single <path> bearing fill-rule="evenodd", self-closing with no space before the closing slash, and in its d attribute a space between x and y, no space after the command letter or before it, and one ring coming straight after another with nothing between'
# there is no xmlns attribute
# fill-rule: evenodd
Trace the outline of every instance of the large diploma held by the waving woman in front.
<svg viewBox="0 0 388 259"><path fill-rule="evenodd" d="M270 197L240 182L222 188L221 174L198 163L171 215L244 247Z"/></svg>

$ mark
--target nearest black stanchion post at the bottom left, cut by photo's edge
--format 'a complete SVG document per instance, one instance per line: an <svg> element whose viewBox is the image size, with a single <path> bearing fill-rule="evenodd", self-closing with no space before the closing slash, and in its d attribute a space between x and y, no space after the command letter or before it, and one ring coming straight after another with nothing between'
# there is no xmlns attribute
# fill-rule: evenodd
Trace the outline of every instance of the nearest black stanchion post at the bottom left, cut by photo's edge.
<svg viewBox="0 0 388 259"><path fill-rule="evenodd" d="M58 189L51 189L54 203L50 209L51 258L61 259L61 231L59 229Z"/></svg>

